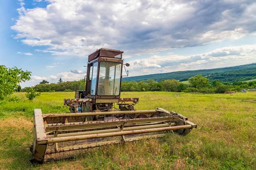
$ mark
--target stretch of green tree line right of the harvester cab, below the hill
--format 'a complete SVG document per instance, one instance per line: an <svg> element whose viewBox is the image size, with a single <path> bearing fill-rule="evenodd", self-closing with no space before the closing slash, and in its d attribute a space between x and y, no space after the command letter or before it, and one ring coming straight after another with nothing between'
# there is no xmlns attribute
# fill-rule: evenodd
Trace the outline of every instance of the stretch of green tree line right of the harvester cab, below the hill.
<svg viewBox="0 0 256 170"><path fill-rule="evenodd" d="M173 92L200 92L200 93L225 93L227 91L241 91L242 89L255 89L256 81L224 83L219 80L209 81L202 75L196 75L182 83L175 79L146 80L140 82L122 82L121 91L173 91Z"/></svg>

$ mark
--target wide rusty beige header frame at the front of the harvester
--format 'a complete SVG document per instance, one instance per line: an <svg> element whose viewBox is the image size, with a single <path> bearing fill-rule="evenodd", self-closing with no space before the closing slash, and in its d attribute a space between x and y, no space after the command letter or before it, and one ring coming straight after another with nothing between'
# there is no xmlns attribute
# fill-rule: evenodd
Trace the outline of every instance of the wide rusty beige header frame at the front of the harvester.
<svg viewBox="0 0 256 170"><path fill-rule="evenodd" d="M142 119L117 119L120 115L153 115L160 117ZM108 117L107 120L86 121L87 116ZM111 119L113 118L113 119ZM115 119L114 119L115 118ZM85 120L85 121L81 121ZM162 108L156 110L113 111L99 113L66 113L42 115L40 109L34 111L33 158L31 161L43 163L45 155L98 147L113 143L136 141L150 137L162 137L163 131L181 130L186 135L197 125L175 112ZM139 136L135 136L140 134ZM144 135L142 135L144 134ZM115 136L120 136L114 138ZM104 140L101 140L101 139ZM93 141L88 141L88 140ZM74 143L72 143L74 141ZM81 141L80 144L77 144ZM71 142L71 143L70 143Z"/></svg>

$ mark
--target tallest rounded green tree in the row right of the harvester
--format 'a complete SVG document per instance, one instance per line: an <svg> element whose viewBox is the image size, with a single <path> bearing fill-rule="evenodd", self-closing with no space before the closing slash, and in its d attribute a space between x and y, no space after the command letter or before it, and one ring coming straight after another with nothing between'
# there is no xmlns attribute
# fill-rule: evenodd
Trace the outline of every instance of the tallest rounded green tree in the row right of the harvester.
<svg viewBox="0 0 256 170"><path fill-rule="evenodd" d="M188 79L191 87L200 89L210 87L209 79L203 77L202 75L196 75Z"/></svg>

